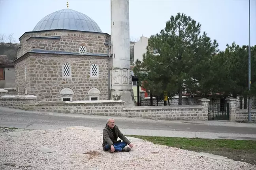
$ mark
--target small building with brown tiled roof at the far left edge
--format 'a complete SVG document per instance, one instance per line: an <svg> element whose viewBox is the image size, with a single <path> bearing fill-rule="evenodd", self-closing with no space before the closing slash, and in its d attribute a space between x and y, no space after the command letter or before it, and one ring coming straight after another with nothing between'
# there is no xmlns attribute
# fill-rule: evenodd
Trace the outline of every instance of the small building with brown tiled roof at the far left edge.
<svg viewBox="0 0 256 170"><path fill-rule="evenodd" d="M14 64L6 55L0 55L0 88L15 87Z"/></svg>

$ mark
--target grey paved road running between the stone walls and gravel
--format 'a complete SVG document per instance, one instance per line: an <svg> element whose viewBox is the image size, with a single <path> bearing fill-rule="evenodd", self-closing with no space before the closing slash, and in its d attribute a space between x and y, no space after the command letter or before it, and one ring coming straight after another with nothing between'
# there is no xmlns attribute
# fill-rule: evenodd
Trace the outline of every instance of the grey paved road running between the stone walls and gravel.
<svg viewBox="0 0 256 170"><path fill-rule="evenodd" d="M0 107L0 127L47 129L85 126L100 129L105 126L107 118L106 116L46 113ZM164 121L124 117L116 117L115 119L117 126L122 129L256 135L256 124L239 124L227 121Z"/></svg>

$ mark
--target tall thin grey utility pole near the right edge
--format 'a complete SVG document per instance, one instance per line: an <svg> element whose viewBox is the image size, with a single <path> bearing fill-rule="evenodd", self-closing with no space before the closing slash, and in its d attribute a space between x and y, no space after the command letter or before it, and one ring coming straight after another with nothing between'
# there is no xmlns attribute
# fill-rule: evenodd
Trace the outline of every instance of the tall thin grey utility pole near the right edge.
<svg viewBox="0 0 256 170"><path fill-rule="evenodd" d="M250 0L249 0L249 44L248 44L248 89L249 89L249 96L248 96L248 121L251 120L251 98L250 98L250 84L251 84L251 75L250 75Z"/></svg>

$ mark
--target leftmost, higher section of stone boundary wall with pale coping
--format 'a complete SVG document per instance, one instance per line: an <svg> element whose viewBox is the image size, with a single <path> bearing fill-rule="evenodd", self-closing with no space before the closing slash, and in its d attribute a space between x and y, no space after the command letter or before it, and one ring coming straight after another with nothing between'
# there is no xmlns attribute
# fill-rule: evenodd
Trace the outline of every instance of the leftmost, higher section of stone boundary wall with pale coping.
<svg viewBox="0 0 256 170"><path fill-rule="evenodd" d="M34 110L36 96L5 95L0 97L0 106L22 110Z"/></svg>

